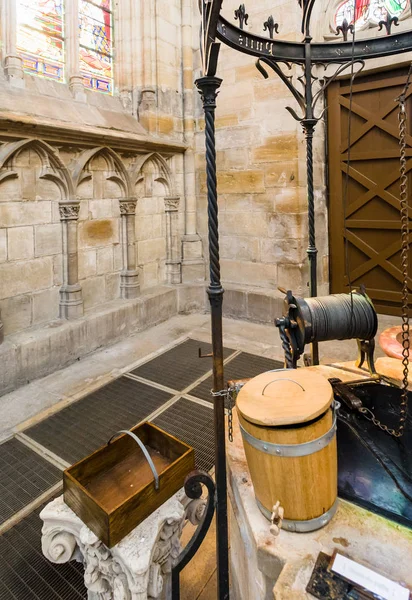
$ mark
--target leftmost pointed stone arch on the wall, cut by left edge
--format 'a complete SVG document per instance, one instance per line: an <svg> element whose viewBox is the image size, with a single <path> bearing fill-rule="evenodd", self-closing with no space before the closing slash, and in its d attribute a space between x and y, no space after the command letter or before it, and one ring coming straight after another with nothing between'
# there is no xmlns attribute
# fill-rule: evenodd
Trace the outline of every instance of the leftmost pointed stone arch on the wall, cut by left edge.
<svg viewBox="0 0 412 600"><path fill-rule="evenodd" d="M25 138L6 142L0 146L0 182L17 178L15 161L24 150L33 150L41 160L40 179L53 181L60 189L62 200L74 198L74 186L70 172L61 160L58 151L39 138Z"/></svg>

